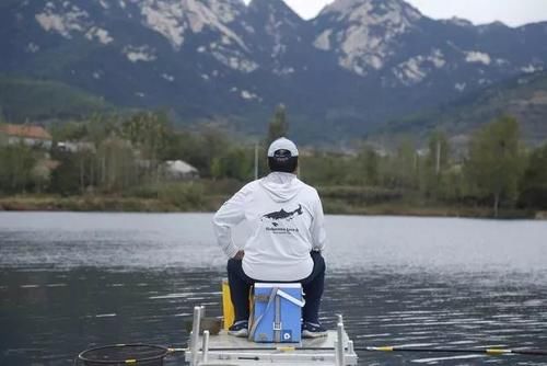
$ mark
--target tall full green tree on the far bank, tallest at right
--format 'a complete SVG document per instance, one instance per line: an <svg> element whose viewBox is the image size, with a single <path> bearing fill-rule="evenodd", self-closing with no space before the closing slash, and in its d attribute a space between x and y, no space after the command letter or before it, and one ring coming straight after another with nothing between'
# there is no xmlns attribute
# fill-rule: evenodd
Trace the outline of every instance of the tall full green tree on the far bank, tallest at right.
<svg viewBox="0 0 547 366"><path fill-rule="evenodd" d="M466 174L477 193L490 197L498 217L501 199L516 197L521 173L519 124L500 117L479 129L472 139Z"/></svg>

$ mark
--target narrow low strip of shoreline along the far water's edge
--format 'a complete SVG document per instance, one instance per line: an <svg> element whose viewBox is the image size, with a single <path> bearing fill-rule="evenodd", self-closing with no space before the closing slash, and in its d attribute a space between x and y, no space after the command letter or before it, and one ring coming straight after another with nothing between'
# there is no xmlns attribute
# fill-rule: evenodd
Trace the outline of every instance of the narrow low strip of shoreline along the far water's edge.
<svg viewBox="0 0 547 366"><path fill-rule="evenodd" d="M182 209L174 204L154 198L119 196L56 196L18 195L0 198L0 211L77 211L77 213L213 213L228 197L209 197L203 204ZM350 205L323 199L327 215L359 216L415 216L415 217L464 217L492 218L489 207L447 205L411 205L383 203L375 205ZM500 219L547 219L547 211L502 209Z"/></svg>

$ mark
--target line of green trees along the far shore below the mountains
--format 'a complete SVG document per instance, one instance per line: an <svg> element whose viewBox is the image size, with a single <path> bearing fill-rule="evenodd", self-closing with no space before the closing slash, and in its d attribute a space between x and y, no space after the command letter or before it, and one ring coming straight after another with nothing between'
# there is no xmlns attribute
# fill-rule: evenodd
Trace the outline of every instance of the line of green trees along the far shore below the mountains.
<svg viewBox="0 0 547 366"><path fill-rule="evenodd" d="M266 174L266 147L276 137L290 135L283 106L276 110L264 138L234 139L211 126L177 129L162 112L97 115L55 125L50 131L54 148L46 152L8 145L0 137L0 194L163 195L185 197L179 207L191 207L193 199L228 195L256 172ZM67 151L55 148L59 141L80 145ZM366 141L352 153L303 146L299 174L339 205L427 202L491 207L493 216L500 208L547 209L547 145L523 145L514 118L484 125L465 149L450 141L446 134L434 131L421 150L411 138L401 138L388 152ZM201 180L166 182L161 173L166 160L190 163ZM210 185L228 181L232 184Z"/></svg>

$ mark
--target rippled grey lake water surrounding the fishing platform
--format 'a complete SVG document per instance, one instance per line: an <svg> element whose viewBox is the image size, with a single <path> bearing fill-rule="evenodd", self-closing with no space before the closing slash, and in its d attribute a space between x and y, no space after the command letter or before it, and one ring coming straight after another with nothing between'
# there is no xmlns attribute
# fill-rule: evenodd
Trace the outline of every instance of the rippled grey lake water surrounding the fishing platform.
<svg viewBox="0 0 547 366"><path fill-rule="evenodd" d="M194 306L220 314L225 259L210 221L0 213L0 365L71 365L113 343L185 346ZM327 216L327 230L322 321L333 327L344 313L356 346L547 348L546 222ZM360 365L547 365L547 356L359 355Z"/></svg>

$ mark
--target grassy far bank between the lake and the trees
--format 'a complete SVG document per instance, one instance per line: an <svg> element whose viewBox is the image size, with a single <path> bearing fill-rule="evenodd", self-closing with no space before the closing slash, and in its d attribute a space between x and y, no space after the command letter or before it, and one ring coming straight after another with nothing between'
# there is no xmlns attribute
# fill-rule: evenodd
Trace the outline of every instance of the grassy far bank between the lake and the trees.
<svg viewBox="0 0 547 366"><path fill-rule="evenodd" d="M211 213L243 184L236 180L198 180L139 185L121 194L0 196L0 210ZM344 185L319 186L317 190L325 213L330 215L493 217L490 206L446 204L400 190ZM500 210L500 218L547 219L547 213L505 207Z"/></svg>

